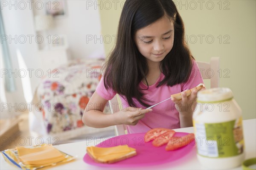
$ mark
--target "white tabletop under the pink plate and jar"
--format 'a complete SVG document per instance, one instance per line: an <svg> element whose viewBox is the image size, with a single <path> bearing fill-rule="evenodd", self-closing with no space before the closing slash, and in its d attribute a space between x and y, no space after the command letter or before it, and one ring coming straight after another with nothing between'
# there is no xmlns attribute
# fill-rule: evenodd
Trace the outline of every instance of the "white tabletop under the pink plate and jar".
<svg viewBox="0 0 256 170"><path fill-rule="evenodd" d="M256 119L250 119L250 120L244 120L243 121L243 127L244 127L244 141L245 141L245 159L254 158L256 157ZM193 133L193 127L186 127L186 128L180 128L175 129L177 132L187 132L187 133ZM55 170L99 170L99 169L120 169L120 168L105 168L105 167L96 167L90 164L86 164L83 161L83 157L86 153L86 147L87 146L94 146L96 144L99 144L104 139L101 140L93 140L92 138L87 138L84 142L75 142L75 143L69 143L69 144L61 144L59 146L55 146L57 149L63 151L64 153L68 153L72 156L77 156L77 158L74 161L71 161L66 164L61 164L55 167L47 167L47 169L55 169ZM17 167L14 167L12 165L9 165L6 163L6 161L3 159L3 156L0 157L0 169L1 170L13 170L18 169ZM131 169L131 168L129 168ZM134 168L132 168L134 169ZM140 169L194 169L194 170L201 170L201 169L207 169L205 167L202 167L199 163L197 156L196 156L196 147L184 156L181 159L178 159L177 161L172 161L170 163L166 164L160 164L157 166L150 166L150 167L141 167ZM240 170L241 167L237 167L234 170Z"/></svg>

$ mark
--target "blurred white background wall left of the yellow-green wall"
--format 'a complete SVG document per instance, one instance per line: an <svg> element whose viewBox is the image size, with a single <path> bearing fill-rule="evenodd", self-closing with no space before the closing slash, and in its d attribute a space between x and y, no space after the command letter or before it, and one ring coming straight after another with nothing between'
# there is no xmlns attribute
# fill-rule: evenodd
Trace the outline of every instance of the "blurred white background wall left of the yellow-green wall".
<svg viewBox="0 0 256 170"><path fill-rule="evenodd" d="M47 2L47 1L41 1ZM24 58L28 69L42 68L40 59L38 59L39 46L35 40L35 36L40 32L35 31L34 16L35 14L45 13L45 8L39 9L36 7L37 0L28 3L29 1L1 1L1 14L5 27L6 35L14 38L17 35L16 41L9 42L10 57L12 60L12 67L19 71L17 63L16 50L20 49L21 55ZM69 44L71 58L88 58L94 57L93 53L96 51L97 56L104 53L102 43L94 43L94 40L86 42L86 37L92 35L93 37L100 37L101 24L99 19L98 10L86 9L86 0L65 0L66 15L62 18L54 20L55 27L47 32L50 35L65 35ZM11 5L13 4L13 5ZM25 5L25 6L24 6ZM18 39L22 35L27 38L26 42L23 39ZM33 36L32 41L29 41L29 35ZM100 52L102 51L102 53ZM101 56L102 57L102 56ZM27 71L29 75L29 71ZM11 75L14 77L14 75ZM31 85L32 91L35 91L41 78L35 76L32 72ZM15 77L17 90L13 93L6 93L7 102L13 103L12 105L19 105L25 103L23 97L23 90L21 87L21 78L17 75ZM3 88L1 86L1 88ZM14 111L14 110L12 110Z"/></svg>

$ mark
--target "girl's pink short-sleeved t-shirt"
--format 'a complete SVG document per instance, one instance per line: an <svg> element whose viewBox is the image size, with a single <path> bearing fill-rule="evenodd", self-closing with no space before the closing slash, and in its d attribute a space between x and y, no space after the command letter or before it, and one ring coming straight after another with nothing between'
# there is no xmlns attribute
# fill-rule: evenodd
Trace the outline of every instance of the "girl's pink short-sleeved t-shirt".
<svg viewBox="0 0 256 170"><path fill-rule="evenodd" d="M187 82L177 84L172 87L162 85L157 88L157 84L163 79L164 75L161 74L153 85L148 86L148 90L143 90L145 98L152 101L152 103L149 105L154 105L168 99L172 94L180 93L182 91L194 88L200 83L203 83L201 73L195 61L193 62L192 72ZM116 92L111 89L106 90L103 80L103 78L100 80L99 85L96 88L96 93L102 96L104 99L111 100L116 95ZM140 82L139 85L141 89L147 89L147 85L145 85L143 82ZM122 96L120 96L120 98L122 101L122 108L127 108L128 102L126 102L126 98L122 98ZM137 102L137 100L135 100L135 104L137 105L137 108L145 109L145 107ZM168 129L180 128L179 112L176 110L175 104L171 99L155 106L152 109L152 112L145 113L145 116L140 119L137 125L128 125L128 133L144 133L157 127Z"/></svg>

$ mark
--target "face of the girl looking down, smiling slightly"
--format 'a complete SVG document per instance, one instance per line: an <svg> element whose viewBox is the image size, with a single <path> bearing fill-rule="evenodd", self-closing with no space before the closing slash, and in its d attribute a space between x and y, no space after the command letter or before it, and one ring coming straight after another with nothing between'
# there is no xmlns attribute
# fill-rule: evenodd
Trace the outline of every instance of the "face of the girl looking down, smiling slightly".
<svg viewBox="0 0 256 170"><path fill-rule="evenodd" d="M173 47L172 20L165 15L151 25L138 30L135 36L137 48L147 62L160 62Z"/></svg>

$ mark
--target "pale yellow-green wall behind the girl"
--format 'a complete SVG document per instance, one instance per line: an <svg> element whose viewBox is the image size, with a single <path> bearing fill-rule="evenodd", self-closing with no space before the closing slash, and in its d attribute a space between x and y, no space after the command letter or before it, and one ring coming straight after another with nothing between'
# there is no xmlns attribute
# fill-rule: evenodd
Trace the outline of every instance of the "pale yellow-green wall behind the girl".
<svg viewBox="0 0 256 170"><path fill-rule="evenodd" d="M124 1L119 2L116 8L113 3L112 8L100 10L102 34L113 37L112 40ZM221 74L216 73L221 77L220 86L233 91L243 119L256 118L256 1L174 2L185 23L187 42L195 59L209 62L211 57L220 57ZM113 45L114 41L105 43L106 54Z"/></svg>

